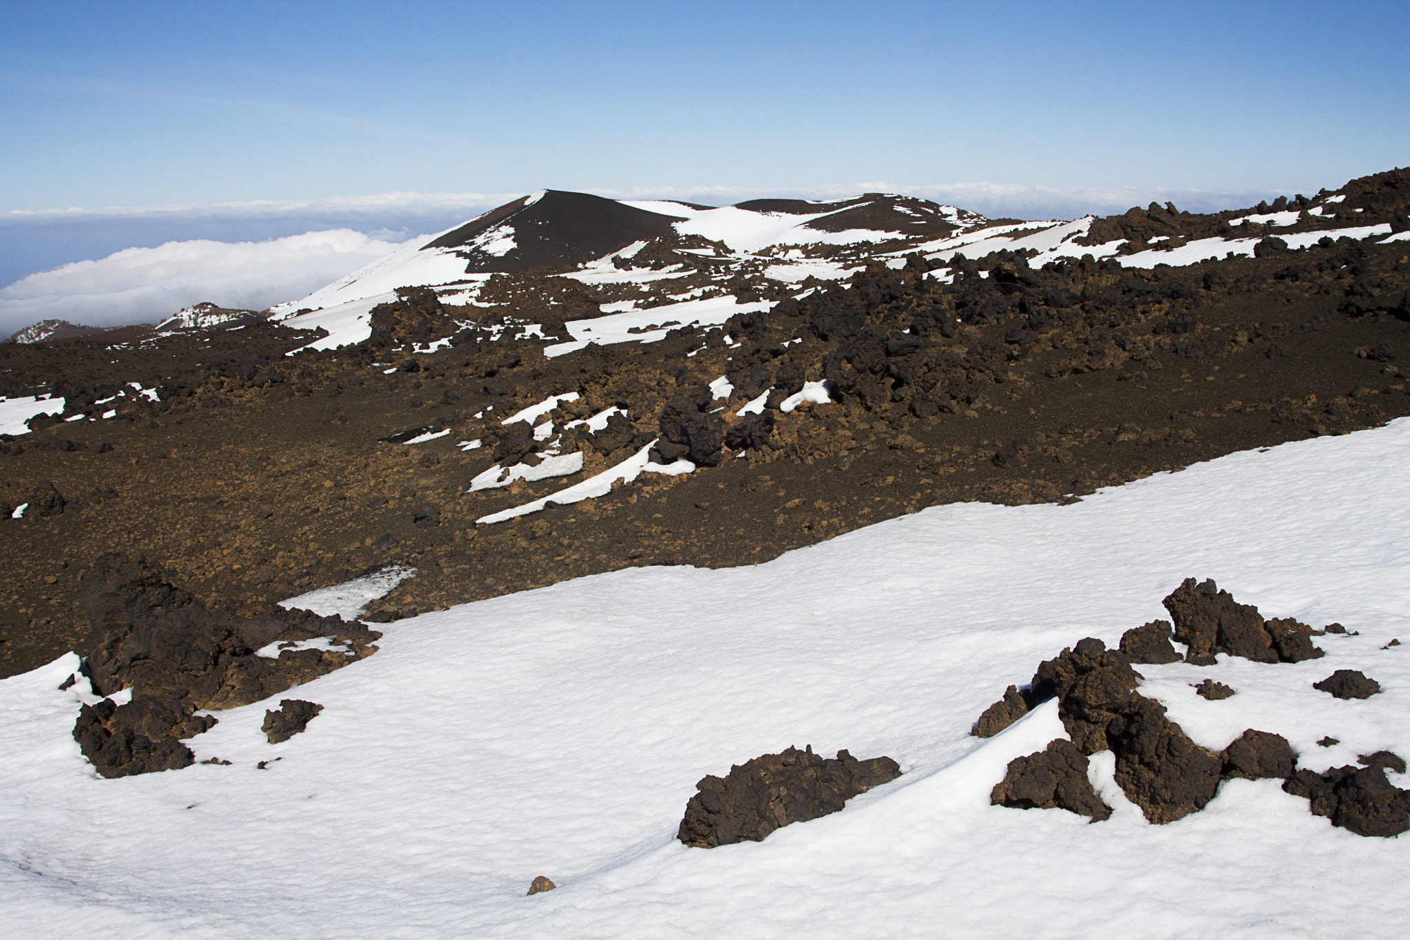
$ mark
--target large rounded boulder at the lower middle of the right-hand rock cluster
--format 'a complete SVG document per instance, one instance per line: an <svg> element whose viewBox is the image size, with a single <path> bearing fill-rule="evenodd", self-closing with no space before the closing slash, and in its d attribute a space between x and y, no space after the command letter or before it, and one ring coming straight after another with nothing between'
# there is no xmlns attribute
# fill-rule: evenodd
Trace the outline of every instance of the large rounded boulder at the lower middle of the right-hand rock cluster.
<svg viewBox="0 0 1410 940"><path fill-rule="evenodd" d="M1117 784L1152 823L1170 823L1214 799L1224 761L1186 736L1165 706L1144 696L1107 729Z"/></svg>

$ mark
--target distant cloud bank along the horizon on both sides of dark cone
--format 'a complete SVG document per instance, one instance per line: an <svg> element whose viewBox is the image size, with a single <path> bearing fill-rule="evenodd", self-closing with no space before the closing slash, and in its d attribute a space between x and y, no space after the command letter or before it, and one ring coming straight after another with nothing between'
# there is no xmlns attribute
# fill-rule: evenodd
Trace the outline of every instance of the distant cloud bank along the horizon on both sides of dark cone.
<svg viewBox="0 0 1410 940"><path fill-rule="evenodd" d="M550 180L550 186L551 186ZM587 189L609 199L725 206L747 199L829 200L907 193L991 218L1076 218L1173 202L1190 211L1255 204L1273 192L1008 183L685 186ZM92 326L152 321L213 300L262 309L355 271L398 242L472 218L523 193L376 193L188 206L0 213L0 333L45 319ZM13 282L13 283L11 283Z"/></svg>

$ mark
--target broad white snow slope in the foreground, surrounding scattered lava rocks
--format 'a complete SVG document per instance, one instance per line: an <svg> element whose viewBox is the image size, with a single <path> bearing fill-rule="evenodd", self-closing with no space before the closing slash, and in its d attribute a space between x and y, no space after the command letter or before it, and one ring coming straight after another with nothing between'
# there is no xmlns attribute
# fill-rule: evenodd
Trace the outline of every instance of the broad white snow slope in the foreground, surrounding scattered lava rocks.
<svg viewBox="0 0 1410 940"><path fill-rule="evenodd" d="M24 937L1287 937L1410 917L1404 839L1230 781L1151 826L988 803L1062 734L1045 706L981 741L1005 685L1083 636L1165 616L1184 576L1269 616L1338 620L1325 658L1142 665L1198 743L1283 734L1301 767L1410 755L1410 420L1234 454L1070 506L952 505L770 564L626 569L381 627L190 741L231 765L99 779L70 737L75 657L0 682L0 902ZM1311 689L1355 668L1363 702ZM1238 691L1206 702L1191 682ZM272 703L271 703L272 705ZM1323 736L1340 740L1318 747ZM694 784L788 744L905 774L763 843L685 848ZM266 769L258 762L265 761ZM1390 778L1404 786L1403 775ZM526 898L536 875L560 886Z"/></svg>

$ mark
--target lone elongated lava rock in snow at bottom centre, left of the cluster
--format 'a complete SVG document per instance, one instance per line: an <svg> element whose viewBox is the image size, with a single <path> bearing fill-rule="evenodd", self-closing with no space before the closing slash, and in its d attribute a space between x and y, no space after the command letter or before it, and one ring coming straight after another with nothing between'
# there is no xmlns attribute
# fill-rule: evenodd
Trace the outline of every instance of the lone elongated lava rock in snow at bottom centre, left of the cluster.
<svg viewBox="0 0 1410 940"><path fill-rule="evenodd" d="M728 777L701 779L685 805L677 839L712 848L747 840L761 841L788 823L835 813L857 793L901 775L890 757L859 761L847 751L835 760L794 747L763 754L730 768Z"/></svg>

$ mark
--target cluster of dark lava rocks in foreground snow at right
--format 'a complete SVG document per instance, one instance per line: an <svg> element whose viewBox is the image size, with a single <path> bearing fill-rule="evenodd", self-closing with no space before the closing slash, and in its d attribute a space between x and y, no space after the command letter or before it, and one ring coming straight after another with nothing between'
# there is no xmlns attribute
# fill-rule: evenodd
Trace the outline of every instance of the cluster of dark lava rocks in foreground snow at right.
<svg viewBox="0 0 1410 940"><path fill-rule="evenodd" d="M1213 665L1215 653L1256 662L1299 662L1320 658L1323 650L1310 626L1293 619L1265 620L1256 607L1241 605L1213 581L1187 578L1165 599L1175 620L1176 641L1186 644L1184 660ZM1344 633L1341 624L1334 633ZM1282 779L1283 789L1310 800L1311 812L1361 836L1396 836L1410 827L1410 791L1389 779L1386 769L1404 772L1404 761L1389 751L1362 757L1363 767L1337 767L1317 774L1296 769L1297 754L1279 734L1248 729L1222 753L1193 741L1159 702L1136 692L1136 664L1179 660L1163 620L1128 630L1117 650L1087 637L1038 667L1026 688L1008 686L1004 696L980 715L973 734L991 737L1036 705L1058 699L1070 741L1053 740L1035 754L1010 761L990 802L1018 809L1067 809L1107 819L1111 809L1097 796L1087 758L1110 750L1117 758L1115 782L1152 823L1169 823L1197 812L1214 799L1225 779ZM1342 699L1363 699L1380 686L1358 671L1338 669L1314 688ZM1206 679L1197 692L1211 700L1234 689ZM1330 740L1330 738L1328 738Z"/></svg>

